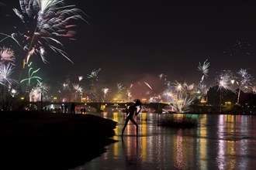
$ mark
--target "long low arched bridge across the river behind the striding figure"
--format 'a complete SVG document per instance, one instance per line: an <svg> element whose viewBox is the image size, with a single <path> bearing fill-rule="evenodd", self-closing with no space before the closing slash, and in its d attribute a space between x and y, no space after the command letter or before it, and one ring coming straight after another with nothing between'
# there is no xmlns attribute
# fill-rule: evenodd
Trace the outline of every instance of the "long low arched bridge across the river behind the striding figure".
<svg viewBox="0 0 256 170"><path fill-rule="evenodd" d="M62 105L66 106L68 110L71 108L71 104L74 104L75 106L87 106L87 107L94 107L97 112L104 111L108 107L119 107L119 108L125 108L126 104L128 102L126 101L116 101L116 100L90 100L88 102L51 102L51 101L38 101L38 102L29 102L29 104L34 104L36 107L40 110L42 110L44 107L48 107L51 104L56 105ZM144 108L150 108L155 110L156 113L162 113L162 110L165 106L168 106L168 104L164 103L143 103L142 107Z"/></svg>

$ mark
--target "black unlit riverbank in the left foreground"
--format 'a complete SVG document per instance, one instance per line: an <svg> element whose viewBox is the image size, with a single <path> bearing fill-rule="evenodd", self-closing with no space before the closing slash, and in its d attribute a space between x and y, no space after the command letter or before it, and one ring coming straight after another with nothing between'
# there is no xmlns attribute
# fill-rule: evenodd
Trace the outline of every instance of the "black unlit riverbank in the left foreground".
<svg viewBox="0 0 256 170"><path fill-rule="evenodd" d="M116 142L116 122L89 114L0 112L0 169L71 169Z"/></svg>

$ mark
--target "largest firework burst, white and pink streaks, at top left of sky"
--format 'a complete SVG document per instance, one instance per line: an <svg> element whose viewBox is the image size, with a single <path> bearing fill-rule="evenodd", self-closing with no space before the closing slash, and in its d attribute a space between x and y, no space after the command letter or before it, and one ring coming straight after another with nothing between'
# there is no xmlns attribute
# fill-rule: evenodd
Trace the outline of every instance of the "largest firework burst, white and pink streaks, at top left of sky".
<svg viewBox="0 0 256 170"><path fill-rule="evenodd" d="M64 0L19 0L19 4L21 12L16 8L13 11L26 25L26 32L2 35L4 39L14 39L27 51L24 63L27 64L33 54L40 54L43 63L47 63L46 49L60 53L73 63L64 52L63 44L56 38L62 36L72 39L75 32L71 28L75 25L70 25L70 22L76 19L85 21L82 17L85 13L74 8L74 5L64 5Z"/></svg>

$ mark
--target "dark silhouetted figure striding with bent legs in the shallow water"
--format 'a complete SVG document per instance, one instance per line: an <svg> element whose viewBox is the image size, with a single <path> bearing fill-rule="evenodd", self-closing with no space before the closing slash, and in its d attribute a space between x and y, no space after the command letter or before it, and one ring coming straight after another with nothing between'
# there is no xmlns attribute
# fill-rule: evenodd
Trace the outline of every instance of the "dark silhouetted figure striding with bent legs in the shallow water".
<svg viewBox="0 0 256 170"><path fill-rule="evenodd" d="M123 137L123 132L126 129L126 126L127 126L129 121L132 121L133 124L135 124L135 126L136 126L136 136L138 137L138 124L136 123L136 121L133 120L133 114L135 114L135 116L137 116L140 113L142 103L141 103L140 99L135 99L133 101L135 103L128 105L127 106L128 108L126 107L126 114L128 114L128 115L126 117L126 122L123 126L122 137ZM140 107L140 110L137 110L137 107Z"/></svg>

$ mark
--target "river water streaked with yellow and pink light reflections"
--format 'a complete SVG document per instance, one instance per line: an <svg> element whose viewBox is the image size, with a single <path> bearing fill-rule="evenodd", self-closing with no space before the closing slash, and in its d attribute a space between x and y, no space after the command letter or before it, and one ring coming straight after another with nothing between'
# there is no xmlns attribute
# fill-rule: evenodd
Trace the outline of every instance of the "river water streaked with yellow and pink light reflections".
<svg viewBox="0 0 256 170"><path fill-rule="evenodd" d="M247 115L199 116L192 129L157 126L158 114L136 117L139 138L132 123L126 127L123 113L98 113L118 122L106 153L75 169L254 169L256 165L256 117ZM183 115L182 115L183 116Z"/></svg>

